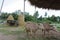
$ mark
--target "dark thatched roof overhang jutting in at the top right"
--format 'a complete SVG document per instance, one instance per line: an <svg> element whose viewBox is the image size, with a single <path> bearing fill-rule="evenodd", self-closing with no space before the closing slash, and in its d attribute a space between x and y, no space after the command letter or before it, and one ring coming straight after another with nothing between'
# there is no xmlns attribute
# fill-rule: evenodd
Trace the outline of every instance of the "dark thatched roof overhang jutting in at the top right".
<svg viewBox="0 0 60 40"><path fill-rule="evenodd" d="M60 0L29 0L29 2L39 8L60 10Z"/></svg>

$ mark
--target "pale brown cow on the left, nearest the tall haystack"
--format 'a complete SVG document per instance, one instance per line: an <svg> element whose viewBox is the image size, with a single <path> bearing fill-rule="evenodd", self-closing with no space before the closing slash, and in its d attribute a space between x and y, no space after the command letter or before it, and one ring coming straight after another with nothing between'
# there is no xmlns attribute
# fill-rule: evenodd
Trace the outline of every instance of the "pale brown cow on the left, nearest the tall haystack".
<svg viewBox="0 0 60 40"><path fill-rule="evenodd" d="M38 24L33 22L26 22L25 29L27 32L27 35L33 36L35 35L36 31L39 29Z"/></svg>

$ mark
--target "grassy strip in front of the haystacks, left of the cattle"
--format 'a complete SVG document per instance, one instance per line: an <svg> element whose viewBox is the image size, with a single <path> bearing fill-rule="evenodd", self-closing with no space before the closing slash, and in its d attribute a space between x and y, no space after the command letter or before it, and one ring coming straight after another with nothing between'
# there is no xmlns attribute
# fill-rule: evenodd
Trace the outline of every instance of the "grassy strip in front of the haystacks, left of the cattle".
<svg viewBox="0 0 60 40"><path fill-rule="evenodd" d="M0 24L0 32L6 35L9 35L9 34L17 35L24 32L24 29L21 27L14 27L14 26L6 27Z"/></svg>

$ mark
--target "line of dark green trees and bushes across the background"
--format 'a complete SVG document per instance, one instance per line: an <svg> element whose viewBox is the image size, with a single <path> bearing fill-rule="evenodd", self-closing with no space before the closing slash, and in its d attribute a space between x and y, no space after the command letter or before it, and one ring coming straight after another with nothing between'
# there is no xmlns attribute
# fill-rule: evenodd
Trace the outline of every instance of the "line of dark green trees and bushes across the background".
<svg viewBox="0 0 60 40"><path fill-rule="evenodd" d="M10 14L14 17L15 20L18 19L19 14L17 14L16 12L13 12L13 13L2 12L2 14L0 15L0 19L6 20ZM33 16L29 15L29 13L27 12L25 12L24 15L25 15L25 21L32 21L37 23L46 22L46 21L49 23L60 23L60 16L55 16L55 15L48 16L47 12L45 12L44 17L39 16L38 11L36 11Z"/></svg>

